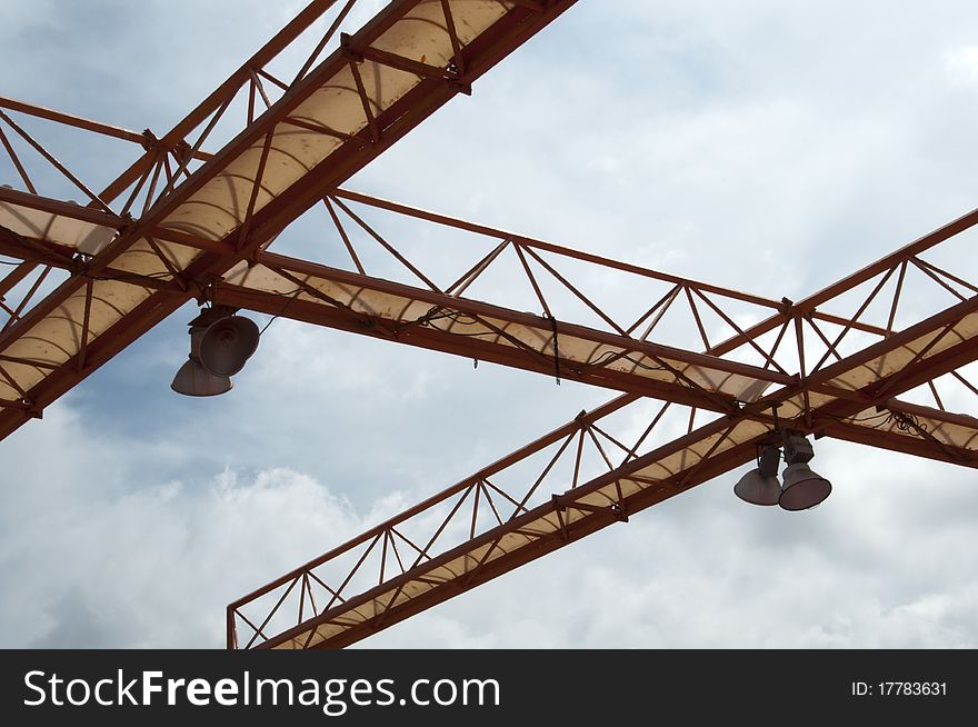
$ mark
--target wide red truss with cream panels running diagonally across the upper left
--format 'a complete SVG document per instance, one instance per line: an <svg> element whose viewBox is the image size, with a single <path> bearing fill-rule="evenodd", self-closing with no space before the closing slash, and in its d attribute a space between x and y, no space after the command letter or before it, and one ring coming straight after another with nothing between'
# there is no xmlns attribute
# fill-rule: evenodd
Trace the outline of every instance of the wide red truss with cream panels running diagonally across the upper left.
<svg viewBox="0 0 978 727"><path fill-rule="evenodd" d="M10 406L0 409L0 438L40 416L51 401L184 302L206 295L214 279L253 258L325 192L452 97L469 92L473 81L573 4L573 0L395 0L355 34L342 36L340 48L313 64L353 2L348 0L339 9L295 80L282 81L265 67L337 4L335 0L312 2L162 139L147 133L146 155L100 195L0 111L0 122L71 180L90 200L88 207L120 220L118 227L107 228L113 236L78 260L57 289L28 309L40 288L31 287L24 300L8 311L10 325L0 332L0 400ZM417 30L432 26L442 32ZM367 76L373 79L369 83L363 81ZM275 92L270 87L278 92L277 100L270 98ZM191 173L203 142L241 92L248 94L243 129ZM260 114L256 94L268 107ZM89 131L111 131L63 114L52 119L53 112L24 104L17 110L70 121ZM188 143L187 135L200 126L200 136ZM0 140L28 193L37 196L8 136ZM113 212L110 203L127 191L128 199ZM140 193L144 201L137 220L131 212ZM20 237L36 229L24 222L17 199L4 195L0 201L9 203L8 215L0 218L7 222L0 225L21 223L14 230ZM47 207L42 200L26 205L38 206ZM13 275L24 279L37 267L37 261L26 261ZM50 270L44 263L40 275Z"/></svg>

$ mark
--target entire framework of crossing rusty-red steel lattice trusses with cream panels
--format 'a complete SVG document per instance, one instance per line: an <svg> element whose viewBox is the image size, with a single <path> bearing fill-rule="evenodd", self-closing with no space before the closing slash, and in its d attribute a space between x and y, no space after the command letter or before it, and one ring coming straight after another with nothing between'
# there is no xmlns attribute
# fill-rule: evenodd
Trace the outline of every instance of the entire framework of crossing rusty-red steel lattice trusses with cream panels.
<svg viewBox="0 0 978 727"><path fill-rule="evenodd" d="M621 396L231 604L229 647L355 643L755 459L779 427L978 466L978 420L954 412L978 395L978 210L792 302L352 192L572 2L391 2L341 34L353 4L311 3L161 138L0 99L21 187L0 188L0 437L192 299ZM270 70L300 41L298 71ZM144 151L94 193L39 119ZM86 205L40 192L32 163ZM271 252L307 212L322 261Z"/></svg>

